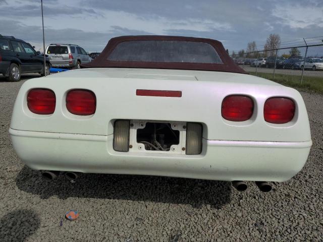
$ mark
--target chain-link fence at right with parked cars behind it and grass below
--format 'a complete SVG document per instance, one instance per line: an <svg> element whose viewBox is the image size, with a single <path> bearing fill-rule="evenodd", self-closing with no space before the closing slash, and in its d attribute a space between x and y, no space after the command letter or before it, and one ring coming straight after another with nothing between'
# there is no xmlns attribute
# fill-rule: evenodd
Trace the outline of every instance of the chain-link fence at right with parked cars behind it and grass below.
<svg viewBox="0 0 323 242"><path fill-rule="evenodd" d="M323 91L323 40L230 56L252 75Z"/></svg>

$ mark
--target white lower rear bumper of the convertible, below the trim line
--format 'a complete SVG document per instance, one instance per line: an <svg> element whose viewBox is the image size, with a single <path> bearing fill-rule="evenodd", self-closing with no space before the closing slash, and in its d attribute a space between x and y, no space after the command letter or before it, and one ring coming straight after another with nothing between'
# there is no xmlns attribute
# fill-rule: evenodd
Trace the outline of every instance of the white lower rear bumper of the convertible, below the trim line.
<svg viewBox="0 0 323 242"><path fill-rule="evenodd" d="M311 141L203 139L200 155L116 152L113 135L10 129L21 160L36 170L176 176L214 180L286 181L304 166Z"/></svg>

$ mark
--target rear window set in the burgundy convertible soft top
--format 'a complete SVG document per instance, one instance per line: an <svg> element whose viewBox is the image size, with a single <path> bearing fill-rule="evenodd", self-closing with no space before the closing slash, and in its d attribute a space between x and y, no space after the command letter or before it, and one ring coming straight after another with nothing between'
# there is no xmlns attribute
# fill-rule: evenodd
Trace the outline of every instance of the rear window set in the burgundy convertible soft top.
<svg viewBox="0 0 323 242"><path fill-rule="evenodd" d="M107 57L116 62L223 64L208 43L174 40L132 40L119 43Z"/></svg>

